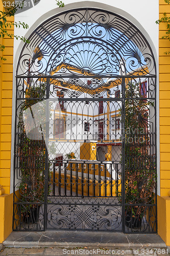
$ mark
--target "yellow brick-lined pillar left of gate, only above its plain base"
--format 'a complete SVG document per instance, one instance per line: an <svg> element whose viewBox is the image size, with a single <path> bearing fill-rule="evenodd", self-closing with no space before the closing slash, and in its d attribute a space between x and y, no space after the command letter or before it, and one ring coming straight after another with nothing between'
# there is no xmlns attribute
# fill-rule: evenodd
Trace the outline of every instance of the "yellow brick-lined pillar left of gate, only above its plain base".
<svg viewBox="0 0 170 256"><path fill-rule="evenodd" d="M0 10L3 10L2 1ZM13 20L14 17L8 17L8 21ZM13 33L13 29L8 32ZM13 42L8 37L1 40L6 46L3 57L7 60L0 61L0 184L5 188L6 194L10 194Z"/></svg>

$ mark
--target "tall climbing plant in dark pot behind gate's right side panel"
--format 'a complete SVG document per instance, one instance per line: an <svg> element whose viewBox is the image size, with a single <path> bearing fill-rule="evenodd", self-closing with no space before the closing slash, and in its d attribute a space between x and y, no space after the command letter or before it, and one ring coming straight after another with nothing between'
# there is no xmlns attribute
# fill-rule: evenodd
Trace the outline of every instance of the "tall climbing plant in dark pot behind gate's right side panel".
<svg viewBox="0 0 170 256"><path fill-rule="evenodd" d="M153 102L142 99L140 84L125 90L125 224L140 228L148 204L154 203L155 155L151 151L149 118ZM122 196L118 193L119 201Z"/></svg>

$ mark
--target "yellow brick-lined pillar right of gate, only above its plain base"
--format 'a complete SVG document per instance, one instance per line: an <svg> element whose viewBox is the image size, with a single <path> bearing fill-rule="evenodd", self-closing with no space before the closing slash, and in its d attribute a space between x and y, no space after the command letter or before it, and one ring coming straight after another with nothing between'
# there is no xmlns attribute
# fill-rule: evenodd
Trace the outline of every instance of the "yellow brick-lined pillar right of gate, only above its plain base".
<svg viewBox="0 0 170 256"><path fill-rule="evenodd" d="M159 17L166 12L170 16L170 5L159 1ZM160 105L160 196L166 197L170 190L170 41L162 39L166 24L159 25L159 105Z"/></svg>

